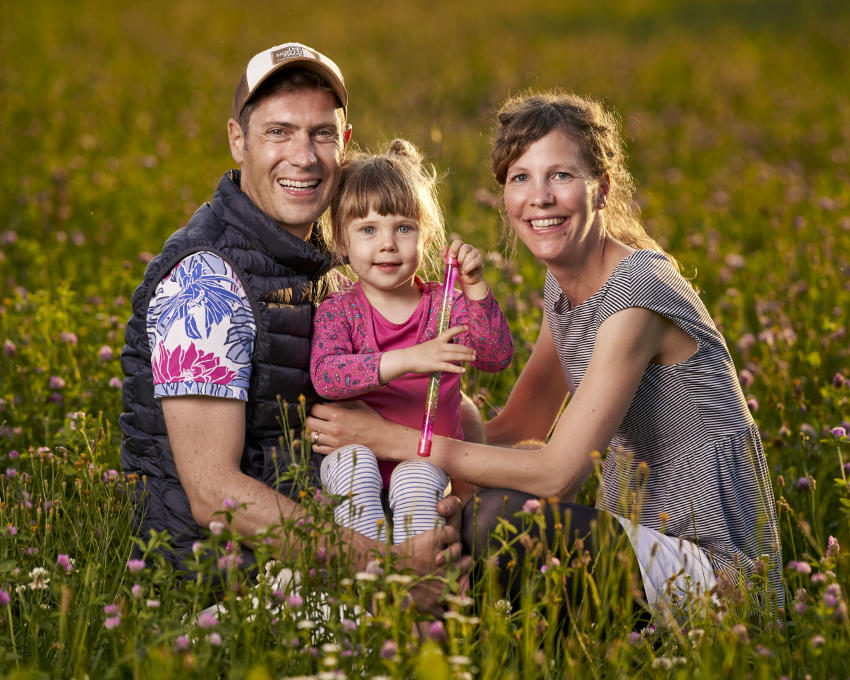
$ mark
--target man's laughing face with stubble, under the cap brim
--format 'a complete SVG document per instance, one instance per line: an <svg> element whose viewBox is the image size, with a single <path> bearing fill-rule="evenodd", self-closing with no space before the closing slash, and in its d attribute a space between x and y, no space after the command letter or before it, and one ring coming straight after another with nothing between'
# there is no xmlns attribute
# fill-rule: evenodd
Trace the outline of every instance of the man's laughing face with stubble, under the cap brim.
<svg viewBox="0 0 850 680"><path fill-rule="evenodd" d="M350 135L324 90L272 94L251 113L248 131L228 122L242 191L293 236L307 239L337 190Z"/></svg>

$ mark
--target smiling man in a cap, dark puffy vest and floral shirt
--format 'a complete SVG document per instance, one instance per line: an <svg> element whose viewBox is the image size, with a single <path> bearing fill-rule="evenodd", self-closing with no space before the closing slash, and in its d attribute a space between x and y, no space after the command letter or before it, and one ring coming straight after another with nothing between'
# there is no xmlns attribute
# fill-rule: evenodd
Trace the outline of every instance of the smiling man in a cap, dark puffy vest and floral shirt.
<svg viewBox="0 0 850 680"><path fill-rule="evenodd" d="M286 43L254 56L227 123L241 171L227 172L211 203L168 239L133 296L121 462L141 478L143 534L167 530L178 568L225 499L246 505L234 524L248 537L302 512L283 474L291 447L279 438L287 428L301 438L299 399L309 407L314 396L313 301L330 267L316 220L339 183L347 105L342 73L315 50ZM441 502L444 515L456 509L456 499ZM341 531L363 568L380 546ZM402 550L423 574L460 558L450 527ZM439 594L431 583L415 594L425 608Z"/></svg>

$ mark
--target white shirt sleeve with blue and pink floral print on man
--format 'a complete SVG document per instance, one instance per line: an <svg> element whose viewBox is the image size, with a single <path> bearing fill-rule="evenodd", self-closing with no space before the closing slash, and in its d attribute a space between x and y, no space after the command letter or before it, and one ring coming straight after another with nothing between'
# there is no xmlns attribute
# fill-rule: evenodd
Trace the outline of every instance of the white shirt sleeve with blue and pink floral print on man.
<svg viewBox="0 0 850 680"><path fill-rule="evenodd" d="M230 265L193 253L157 286L148 306L155 397L248 400L257 327Z"/></svg>

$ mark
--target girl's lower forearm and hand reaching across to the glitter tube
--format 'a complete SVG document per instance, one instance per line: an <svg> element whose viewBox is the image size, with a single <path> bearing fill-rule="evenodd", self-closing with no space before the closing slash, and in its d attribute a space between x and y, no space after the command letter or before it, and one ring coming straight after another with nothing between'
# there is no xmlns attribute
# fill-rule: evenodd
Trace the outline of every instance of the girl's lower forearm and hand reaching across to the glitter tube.
<svg viewBox="0 0 850 680"><path fill-rule="evenodd" d="M466 330L466 326L455 326L433 340L384 352L378 366L378 380L386 385L405 373L463 373L466 369L459 364L475 361L475 350L465 345L455 345L451 340Z"/></svg>

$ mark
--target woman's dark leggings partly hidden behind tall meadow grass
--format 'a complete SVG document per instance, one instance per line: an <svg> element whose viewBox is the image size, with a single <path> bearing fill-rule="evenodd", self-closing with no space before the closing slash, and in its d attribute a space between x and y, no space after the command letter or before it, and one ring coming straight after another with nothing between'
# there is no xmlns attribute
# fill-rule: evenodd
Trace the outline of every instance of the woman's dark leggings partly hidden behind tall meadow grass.
<svg viewBox="0 0 850 680"><path fill-rule="evenodd" d="M498 548L500 541L493 538L493 532L496 530L501 520L507 520L513 524L518 533L524 528L523 520L514 517L514 514L523 509L525 503L529 500L537 500L536 496L515 491L513 489L486 489L481 491L477 496L470 500L463 508L463 529L462 540L464 551L471 554L475 560L476 569L473 571L473 579L480 579L483 576L483 569L488 552L494 548ZM554 546L556 541L563 541L567 554L571 554L573 558L581 557L579 553L584 550L589 551L592 560L597 560L599 553L599 528L602 526L608 527L608 546L615 546L616 550L622 552L628 551L630 557L634 557L634 551L631 544L625 536L620 523L610 515L603 517L606 513L597 511L594 508L585 505L577 505L575 503L560 503L557 505L558 517L555 517L553 506L548 503L543 503L542 512L545 513L546 528L545 542L561 560L564 559L563 551L560 552ZM556 524L560 522L563 530L558 531ZM527 528L527 524L525 526ZM540 532L536 525L532 525L529 532L532 539L541 538ZM511 534L516 536L517 534ZM582 543L578 543L577 541ZM528 542L527 542L528 543ZM574 552L576 548L583 544L583 550ZM554 549L553 549L554 548ZM516 611L521 604L522 597L522 579L519 578L522 573L522 565L527 556L526 545L522 541L514 541L512 549L515 557L503 552L497 560L498 570L497 576L502 592L508 598ZM606 558L609 556L605 551ZM611 560L617 561L617 560ZM514 562L514 564L511 564ZM535 568L540 565L535 565ZM592 565L596 567L598 565ZM590 568L590 567L589 567ZM631 580L636 584L632 590L638 606L640 602L645 602L643 596L643 586L640 578L640 572L637 564L637 559L631 560L631 574L628 574ZM580 592L581 588L574 588L573 583L569 580L565 585L565 592L572 593L570 605L577 605L575 593ZM580 598L580 595L578 596ZM566 615L566 612L564 613Z"/></svg>

